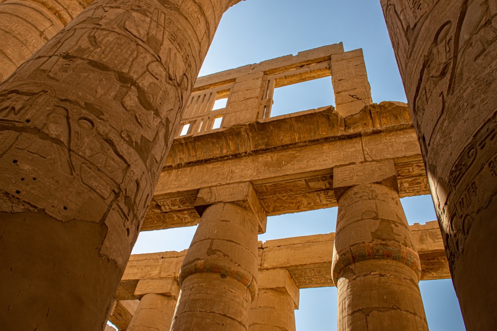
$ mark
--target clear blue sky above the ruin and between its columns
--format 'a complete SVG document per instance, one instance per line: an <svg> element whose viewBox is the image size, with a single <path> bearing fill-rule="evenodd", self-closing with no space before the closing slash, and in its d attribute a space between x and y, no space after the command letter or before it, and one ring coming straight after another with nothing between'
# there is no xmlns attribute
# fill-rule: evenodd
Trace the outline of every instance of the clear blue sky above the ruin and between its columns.
<svg viewBox="0 0 497 331"><path fill-rule="evenodd" d="M363 49L373 102L406 101L379 0L241 1L223 16L200 74L338 42L346 51ZM304 85L277 90L273 115L333 104L330 78ZM436 219L429 196L402 202L410 224ZM335 221L336 208L270 217L259 240L330 233ZM133 254L186 249L194 231L141 233ZM450 280L421 281L420 289L431 331L465 330ZM295 315L298 331L336 330L336 289L301 290Z"/></svg>

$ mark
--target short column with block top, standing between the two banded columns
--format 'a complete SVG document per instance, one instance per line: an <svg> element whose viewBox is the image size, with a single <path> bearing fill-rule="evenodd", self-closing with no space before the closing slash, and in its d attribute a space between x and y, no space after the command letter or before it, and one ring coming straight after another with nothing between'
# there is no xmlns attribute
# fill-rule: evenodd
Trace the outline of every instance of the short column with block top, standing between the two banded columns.
<svg viewBox="0 0 497 331"><path fill-rule="evenodd" d="M259 292L250 309L249 331L295 331L299 288L286 269L259 271Z"/></svg>

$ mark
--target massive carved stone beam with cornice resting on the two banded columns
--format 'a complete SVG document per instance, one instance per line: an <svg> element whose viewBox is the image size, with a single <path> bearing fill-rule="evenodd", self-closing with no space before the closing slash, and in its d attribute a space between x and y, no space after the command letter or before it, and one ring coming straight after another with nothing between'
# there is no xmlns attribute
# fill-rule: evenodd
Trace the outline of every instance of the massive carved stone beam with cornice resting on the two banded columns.
<svg viewBox="0 0 497 331"><path fill-rule="evenodd" d="M429 194L402 103L371 105L345 118L325 107L177 138L141 230L195 225L199 189L242 181L252 183L267 215L336 206L333 167L387 159L401 197Z"/></svg>

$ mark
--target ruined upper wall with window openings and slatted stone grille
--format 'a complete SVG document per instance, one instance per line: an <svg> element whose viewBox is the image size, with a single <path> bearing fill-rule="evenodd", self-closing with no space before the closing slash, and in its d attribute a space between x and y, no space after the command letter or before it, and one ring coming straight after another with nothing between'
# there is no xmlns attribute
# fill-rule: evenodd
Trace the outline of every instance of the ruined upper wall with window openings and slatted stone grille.
<svg viewBox="0 0 497 331"><path fill-rule="evenodd" d="M176 135L199 135L267 119L275 88L327 76L341 116L356 114L372 103L362 50L344 52L339 43L199 77ZM226 103L215 107L222 99Z"/></svg>

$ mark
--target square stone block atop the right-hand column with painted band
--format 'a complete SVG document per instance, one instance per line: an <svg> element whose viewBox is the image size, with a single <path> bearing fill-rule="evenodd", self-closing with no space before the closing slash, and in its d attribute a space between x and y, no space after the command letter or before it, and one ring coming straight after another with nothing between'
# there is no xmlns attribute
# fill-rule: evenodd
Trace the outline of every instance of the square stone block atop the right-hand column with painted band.
<svg viewBox="0 0 497 331"><path fill-rule="evenodd" d="M360 184L383 184L399 191L394 160L371 161L333 168L333 190L340 197L347 189Z"/></svg>

